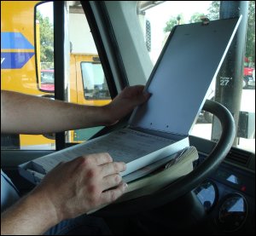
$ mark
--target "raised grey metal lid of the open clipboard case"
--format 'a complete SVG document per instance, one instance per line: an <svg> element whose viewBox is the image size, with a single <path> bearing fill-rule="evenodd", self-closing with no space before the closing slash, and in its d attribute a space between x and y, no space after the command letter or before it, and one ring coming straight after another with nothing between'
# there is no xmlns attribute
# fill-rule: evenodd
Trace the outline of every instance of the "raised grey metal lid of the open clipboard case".
<svg viewBox="0 0 256 236"><path fill-rule="evenodd" d="M134 110L131 127L188 136L240 22L241 16L175 26L146 84L151 97Z"/></svg>

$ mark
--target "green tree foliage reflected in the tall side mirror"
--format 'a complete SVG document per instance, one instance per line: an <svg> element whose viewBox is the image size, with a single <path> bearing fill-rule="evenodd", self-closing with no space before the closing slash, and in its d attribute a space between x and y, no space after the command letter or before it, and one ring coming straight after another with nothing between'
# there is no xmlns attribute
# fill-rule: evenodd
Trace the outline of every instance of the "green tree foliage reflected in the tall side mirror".
<svg viewBox="0 0 256 236"><path fill-rule="evenodd" d="M43 17L37 10L36 19L39 22L40 31L40 60L41 62L54 61L54 31L49 17Z"/></svg>

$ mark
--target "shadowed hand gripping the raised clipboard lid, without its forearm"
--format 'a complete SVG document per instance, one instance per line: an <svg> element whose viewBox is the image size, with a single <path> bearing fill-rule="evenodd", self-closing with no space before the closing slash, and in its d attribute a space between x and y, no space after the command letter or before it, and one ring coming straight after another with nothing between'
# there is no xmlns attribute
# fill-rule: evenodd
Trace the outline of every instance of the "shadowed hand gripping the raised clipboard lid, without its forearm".
<svg viewBox="0 0 256 236"><path fill-rule="evenodd" d="M105 106L110 118L107 125L117 123L120 118L124 118L136 106L148 101L150 94L143 92L143 89L143 85L126 87L112 102Z"/></svg>

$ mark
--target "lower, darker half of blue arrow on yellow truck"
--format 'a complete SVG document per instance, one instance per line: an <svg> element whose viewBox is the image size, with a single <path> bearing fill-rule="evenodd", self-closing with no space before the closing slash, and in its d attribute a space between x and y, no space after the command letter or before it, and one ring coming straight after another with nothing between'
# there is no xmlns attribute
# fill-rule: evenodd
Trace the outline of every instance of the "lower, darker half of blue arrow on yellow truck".
<svg viewBox="0 0 256 236"><path fill-rule="evenodd" d="M20 69L32 58L33 55L33 52L1 53L1 70Z"/></svg>

